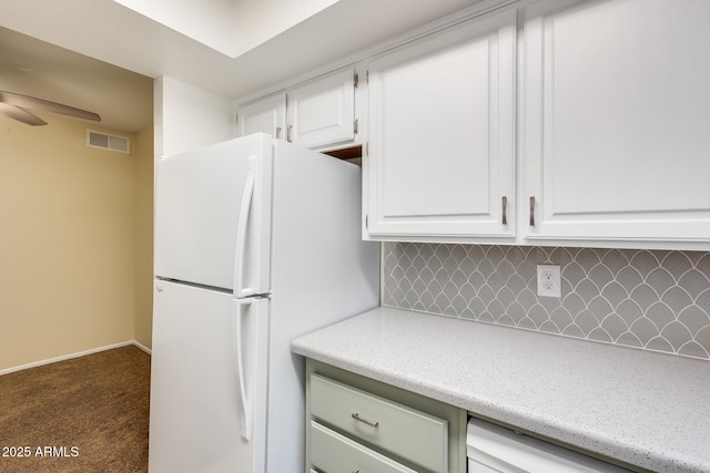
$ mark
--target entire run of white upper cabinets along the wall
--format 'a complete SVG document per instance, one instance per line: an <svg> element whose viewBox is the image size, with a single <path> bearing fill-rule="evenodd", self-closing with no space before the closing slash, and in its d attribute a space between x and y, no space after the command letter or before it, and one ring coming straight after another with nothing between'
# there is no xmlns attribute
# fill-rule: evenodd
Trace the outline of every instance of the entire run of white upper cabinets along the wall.
<svg viewBox="0 0 710 473"><path fill-rule="evenodd" d="M710 0L476 8L240 109L241 134L362 144L365 239L710 249Z"/></svg>

